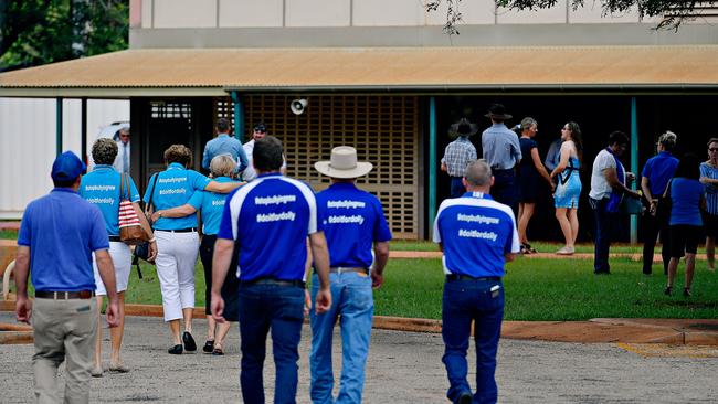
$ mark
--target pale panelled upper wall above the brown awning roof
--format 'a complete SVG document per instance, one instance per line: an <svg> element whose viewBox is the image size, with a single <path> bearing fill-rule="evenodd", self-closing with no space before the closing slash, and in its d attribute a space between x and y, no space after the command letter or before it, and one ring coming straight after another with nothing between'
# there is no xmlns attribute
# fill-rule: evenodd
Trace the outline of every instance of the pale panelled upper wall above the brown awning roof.
<svg viewBox="0 0 718 404"><path fill-rule="evenodd" d="M426 0L141 0L142 28L426 26L446 22L446 3L427 12ZM135 3L133 3L135 4ZM600 2L573 10L559 0L546 10L496 9L494 0L458 3L464 24L638 22L636 11L602 15ZM651 19L645 23L655 23Z"/></svg>

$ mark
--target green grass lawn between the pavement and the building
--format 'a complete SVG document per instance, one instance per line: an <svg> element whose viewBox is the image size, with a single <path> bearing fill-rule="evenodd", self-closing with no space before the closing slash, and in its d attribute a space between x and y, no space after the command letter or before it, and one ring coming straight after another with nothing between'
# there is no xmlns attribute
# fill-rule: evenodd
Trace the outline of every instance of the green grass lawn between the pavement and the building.
<svg viewBox="0 0 718 404"><path fill-rule="evenodd" d="M665 277L658 265L653 276L641 274L641 263L611 261L612 274L595 276L589 259L517 259L505 277L507 320L585 320L616 318L718 318L718 274L698 263L689 299L680 296L680 266L675 296L663 295ZM145 265L145 278L133 272L128 302L161 304L155 267ZM204 305L204 276L197 267L197 306ZM376 313L441 318L443 273L440 259L390 259L386 281L374 291Z"/></svg>

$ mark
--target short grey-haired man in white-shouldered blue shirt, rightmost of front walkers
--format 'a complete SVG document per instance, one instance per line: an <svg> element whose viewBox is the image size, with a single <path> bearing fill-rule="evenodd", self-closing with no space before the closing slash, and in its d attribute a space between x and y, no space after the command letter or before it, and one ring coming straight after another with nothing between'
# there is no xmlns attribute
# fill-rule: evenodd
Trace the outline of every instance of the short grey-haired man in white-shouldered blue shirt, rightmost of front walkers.
<svg viewBox="0 0 718 404"><path fill-rule="evenodd" d="M442 202L434 243L444 252L442 337L453 403L495 403L494 372L504 318L504 264L520 251L514 212L492 199L492 169L478 160L466 168L462 198ZM466 380L471 325L476 340L476 393Z"/></svg>

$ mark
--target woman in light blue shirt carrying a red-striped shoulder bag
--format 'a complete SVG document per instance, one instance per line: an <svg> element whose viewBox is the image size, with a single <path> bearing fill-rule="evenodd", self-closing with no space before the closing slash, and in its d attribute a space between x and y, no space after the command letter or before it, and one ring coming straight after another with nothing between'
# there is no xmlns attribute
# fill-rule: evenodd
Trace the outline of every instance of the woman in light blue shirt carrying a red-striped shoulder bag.
<svg viewBox="0 0 718 404"><path fill-rule="evenodd" d="M131 253L129 246L119 240L119 201L120 199L128 199L133 203L133 208L137 213L140 225L145 228L147 234L151 234L152 230L147 222L147 217L142 214L139 208L139 192L135 187L135 181L131 177L120 174L113 168L113 162L117 156L117 143L112 139L97 139L92 148L92 157L95 161L95 167L92 172L83 176L80 183L80 195L86 199L89 203L95 204L103 213L105 219L105 227L109 236L109 255L113 258L115 266L115 278L117 279L117 297L119 298L119 326L109 330L109 340L112 344L112 353L109 355L109 371L125 373L128 369L123 364L119 358L119 350L123 344L123 334L125 331L125 290L129 283L129 273L131 269ZM123 181L123 177L125 180ZM120 181L124 184L120 187ZM120 188L123 194L120 194ZM150 241L150 259L157 255L157 244L152 238ZM97 307L103 305L103 296L107 295L105 285L97 272L97 265L93 254L93 268L95 270L95 294L97 295ZM97 333L95 340L95 366L92 370L92 375L99 378L103 375L102 368L102 327L99 310L97 310Z"/></svg>

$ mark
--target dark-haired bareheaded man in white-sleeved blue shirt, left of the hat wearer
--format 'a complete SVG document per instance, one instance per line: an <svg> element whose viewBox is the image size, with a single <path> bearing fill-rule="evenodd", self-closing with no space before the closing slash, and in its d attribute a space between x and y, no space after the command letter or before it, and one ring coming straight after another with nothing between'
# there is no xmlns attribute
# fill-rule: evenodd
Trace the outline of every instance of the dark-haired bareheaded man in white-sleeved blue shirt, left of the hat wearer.
<svg viewBox="0 0 718 404"><path fill-rule="evenodd" d="M224 321L221 289L237 241L242 398L249 404L264 403L262 369L266 336L272 330L274 402L294 403L307 236L319 279L317 312L331 307L329 253L318 226L314 192L304 182L279 173L282 142L273 136L257 140L252 161L258 177L233 191L224 204L212 262L212 316Z"/></svg>

